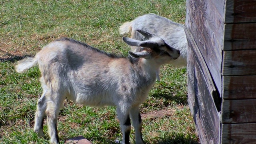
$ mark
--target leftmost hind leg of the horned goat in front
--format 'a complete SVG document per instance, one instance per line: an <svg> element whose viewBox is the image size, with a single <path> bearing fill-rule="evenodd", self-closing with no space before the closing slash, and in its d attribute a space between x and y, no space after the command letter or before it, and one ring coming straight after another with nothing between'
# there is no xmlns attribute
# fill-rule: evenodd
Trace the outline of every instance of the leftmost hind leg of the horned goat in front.
<svg viewBox="0 0 256 144"><path fill-rule="evenodd" d="M44 117L46 116L46 91L43 92L42 96L39 97L37 101L37 108L35 114L35 125L34 125L34 132L38 134L39 137L44 137Z"/></svg>

